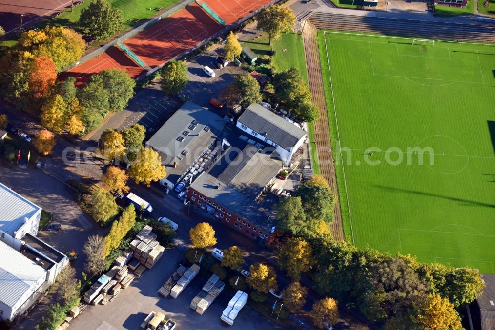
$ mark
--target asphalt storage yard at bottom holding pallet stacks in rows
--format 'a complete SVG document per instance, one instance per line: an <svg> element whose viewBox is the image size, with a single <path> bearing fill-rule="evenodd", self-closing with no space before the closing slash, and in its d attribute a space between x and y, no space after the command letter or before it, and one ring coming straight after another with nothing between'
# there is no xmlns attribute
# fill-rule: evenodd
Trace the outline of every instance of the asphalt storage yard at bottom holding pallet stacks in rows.
<svg viewBox="0 0 495 330"><path fill-rule="evenodd" d="M183 253L173 249L165 251L163 257L141 278L122 290L107 305L88 306L77 318L71 321L71 329L141 329L140 325L149 312L162 312L165 318L177 322L180 329L290 329L274 324L249 306L245 306L232 327L220 320L223 310L232 298L228 288L224 289L212 305L199 315L189 305L198 294L207 278L198 274L177 299L164 298L158 289L179 266ZM228 285L228 283L227 283Z"/></svg>

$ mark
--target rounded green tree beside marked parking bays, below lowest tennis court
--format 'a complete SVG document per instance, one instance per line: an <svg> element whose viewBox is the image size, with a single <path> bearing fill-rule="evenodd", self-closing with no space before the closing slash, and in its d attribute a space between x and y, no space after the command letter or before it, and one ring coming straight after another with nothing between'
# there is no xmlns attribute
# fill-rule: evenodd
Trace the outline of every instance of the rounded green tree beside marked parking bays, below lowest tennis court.
<svg viewBox="0 0 495 330"><path fill-rule="evenodd" d="M125 70L103 70L92 78L92 81L101 81L101 86L108 93L108 110L114 112L123 110L134 95L136 81L125 73Z"/></svg>

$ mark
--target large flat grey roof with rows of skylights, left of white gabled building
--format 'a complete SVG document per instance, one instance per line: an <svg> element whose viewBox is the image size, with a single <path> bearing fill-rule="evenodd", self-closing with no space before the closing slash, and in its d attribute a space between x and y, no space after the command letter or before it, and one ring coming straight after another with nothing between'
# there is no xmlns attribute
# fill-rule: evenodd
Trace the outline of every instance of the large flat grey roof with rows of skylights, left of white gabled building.
<svg viewBox="0 0 495 330"><path fill-rule="evenodd" d="M159 152L167 179L176 182L222 133L226 123L206 108L187 101L146 141L146 145ZM175 162L177 167L174 168Z"/></svg>

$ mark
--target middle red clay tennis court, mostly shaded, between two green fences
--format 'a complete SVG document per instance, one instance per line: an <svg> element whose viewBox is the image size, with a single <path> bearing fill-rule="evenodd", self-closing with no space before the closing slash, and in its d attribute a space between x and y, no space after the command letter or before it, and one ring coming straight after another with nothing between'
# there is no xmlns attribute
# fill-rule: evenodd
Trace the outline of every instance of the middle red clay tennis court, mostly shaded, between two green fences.
<svg viewBox="0 0 495 330"><path fill-rule="evenodd" d="M221 29L220 24L193 3L127 39L124 45L153 68L193 49Z"/></svg>

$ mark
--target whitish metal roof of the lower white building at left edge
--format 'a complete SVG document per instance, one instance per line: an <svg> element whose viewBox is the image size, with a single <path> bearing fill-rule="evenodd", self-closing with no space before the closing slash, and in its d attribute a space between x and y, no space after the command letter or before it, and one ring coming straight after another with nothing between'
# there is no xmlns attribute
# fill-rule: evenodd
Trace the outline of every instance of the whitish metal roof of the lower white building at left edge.
<svg viewBox="0 0 495 330"><path fill-rule="evenodd" d="M0 301L9 307L40 278L46 271L7 244L0 241Z"/></svg>

